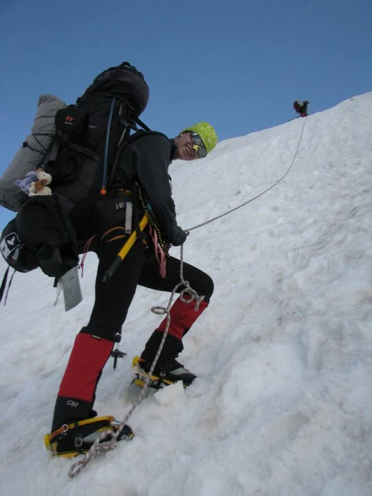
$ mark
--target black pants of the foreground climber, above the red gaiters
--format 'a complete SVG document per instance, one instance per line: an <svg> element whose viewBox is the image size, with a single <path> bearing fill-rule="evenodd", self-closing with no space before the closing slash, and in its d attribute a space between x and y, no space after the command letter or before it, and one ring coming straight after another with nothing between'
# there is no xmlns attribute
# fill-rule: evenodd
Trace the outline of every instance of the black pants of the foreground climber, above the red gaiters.
<svg viewBox="0 0 372 496"><path fill-rule="evenodd" d="M103 282L105 272L129 237L123 229L125 213L117 209L117 203L116 198L105 198L82 205L71 216L79 240L85 242L95 236L90 250L99 258L95 302L85 332L110 340L121 331L137 285L170 292L180 282L180 260L172 256L167 258L166 277L161 277L154 247L146 231L148 247L143 240L136 240L112 278ZM183 278L198 295L205 297L205 302L209 302L214 283L207 273L184 262ZM178 288L178 293L182 289Z"/></svg>

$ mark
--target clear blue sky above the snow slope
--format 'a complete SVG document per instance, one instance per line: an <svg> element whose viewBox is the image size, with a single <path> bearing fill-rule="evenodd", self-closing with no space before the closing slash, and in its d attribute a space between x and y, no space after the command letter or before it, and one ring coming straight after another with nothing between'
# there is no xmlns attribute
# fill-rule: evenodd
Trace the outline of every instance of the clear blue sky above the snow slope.
<svg viewBox="0 0 372 496"><path fill-rule="evenodd" d="M168 136L200 120L243 136L294 117L293 99L314 113L370 91L371 14L369 0L3 0L0 172L39 94L74 103L126 60L150 87L142 120Z"/></svg>

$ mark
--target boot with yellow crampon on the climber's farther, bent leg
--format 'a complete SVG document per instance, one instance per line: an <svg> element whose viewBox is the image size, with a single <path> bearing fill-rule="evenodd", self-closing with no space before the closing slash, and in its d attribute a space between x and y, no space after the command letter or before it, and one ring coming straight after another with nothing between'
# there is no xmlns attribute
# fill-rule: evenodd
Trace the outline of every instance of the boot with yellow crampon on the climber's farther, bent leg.
<svg viewBox="0 0 372 496"><path fill-rule="evenodd" d="M194 373L185 369L176 359L169 360L169 362L163 363L162 366L155 366L154 372L149 376L151 366L152 362L146 362L138 356L134 357L132 362L133 384L143 387L145 386L145 381L149 379L149 387L161 389L164 386L169 386L169 384L182 381L183 387L187 388L197 377Z"/></svg>

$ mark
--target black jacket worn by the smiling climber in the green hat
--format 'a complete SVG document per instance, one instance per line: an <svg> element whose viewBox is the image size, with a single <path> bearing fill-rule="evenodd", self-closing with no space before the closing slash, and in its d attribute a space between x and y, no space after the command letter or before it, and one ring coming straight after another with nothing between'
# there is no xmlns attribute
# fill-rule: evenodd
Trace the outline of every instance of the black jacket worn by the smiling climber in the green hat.
<svg viewBox="0 0 372 496"><path fill-rule="evenodd" d="M174 141L165 134L152 131L134 134L123 146L118 158L112 188L139 183L162 234L172 245L178 246L183 244L186 234L177 225L176 208L169 183L168 167L175 152Z"/></svg>

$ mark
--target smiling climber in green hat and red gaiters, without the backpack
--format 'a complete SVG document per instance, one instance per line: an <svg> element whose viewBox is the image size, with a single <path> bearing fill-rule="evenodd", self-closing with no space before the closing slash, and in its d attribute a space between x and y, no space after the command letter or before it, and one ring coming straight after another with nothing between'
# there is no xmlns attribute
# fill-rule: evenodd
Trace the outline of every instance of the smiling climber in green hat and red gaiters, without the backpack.
<svg viewBox="0 0 372 496"><path fill-rule="evenodd" d="M45 445L53 454L70 457L84 453L100 430L116 430L113 417L95 417L93 404L103 366L120 338L136 286L170 292L180 282L180 260L167 255L167 249L169 245L182 245L187 234L176 222L169 164L176 158L203 158L216 143L216 132L208 123L188 127L174 139L157 132L138 132L123 147L109 194L83 201L70 212L84 251L97 254L99 267L90 321L76 336L56 399L52 433L45 436ZM150 217L143 235L139 236L138 231L121 265L108 282L103 282L126 238L132 229L138 229L143 214ZM211 278L192 265L184 263L183 276L204 298L198 306L178 298L170 309L169 333L154 370L155 378L163 384L183 380L187 385L196 377L176 357L183 350L183 335L207 308L214 291ZM182 289L179 287L178 293ZM147 340L141 358L136 358L137 370L143 375L158 351L166 322L165 318Z"/></svg>

